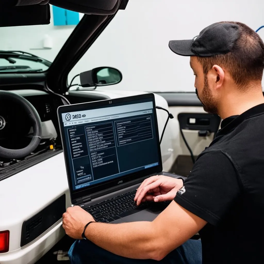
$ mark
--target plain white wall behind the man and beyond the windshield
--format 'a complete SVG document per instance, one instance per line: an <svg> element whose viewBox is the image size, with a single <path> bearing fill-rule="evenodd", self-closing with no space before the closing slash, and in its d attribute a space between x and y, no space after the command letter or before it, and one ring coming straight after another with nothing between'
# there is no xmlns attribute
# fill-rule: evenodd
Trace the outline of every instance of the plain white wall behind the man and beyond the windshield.
<svg viewBox="0 0 264 264"><path fill-rule="evenodd" d="M121 70L123 80L104 89L142 91L194 91L194 76L189 58L178 56L168 48L172 39L190 39L211 23L235 20L256 30L264 25L264 1L261 0L130 0L69 74L98 66ZM74 26L50 25L0 28L0 49L22 49L53 60ZM49 34L51 50L41 47ZM264 29L259 31L264 39ZM78 80L76 80L78 82ZM263 81L264 86L264 81Z"/></svg>

